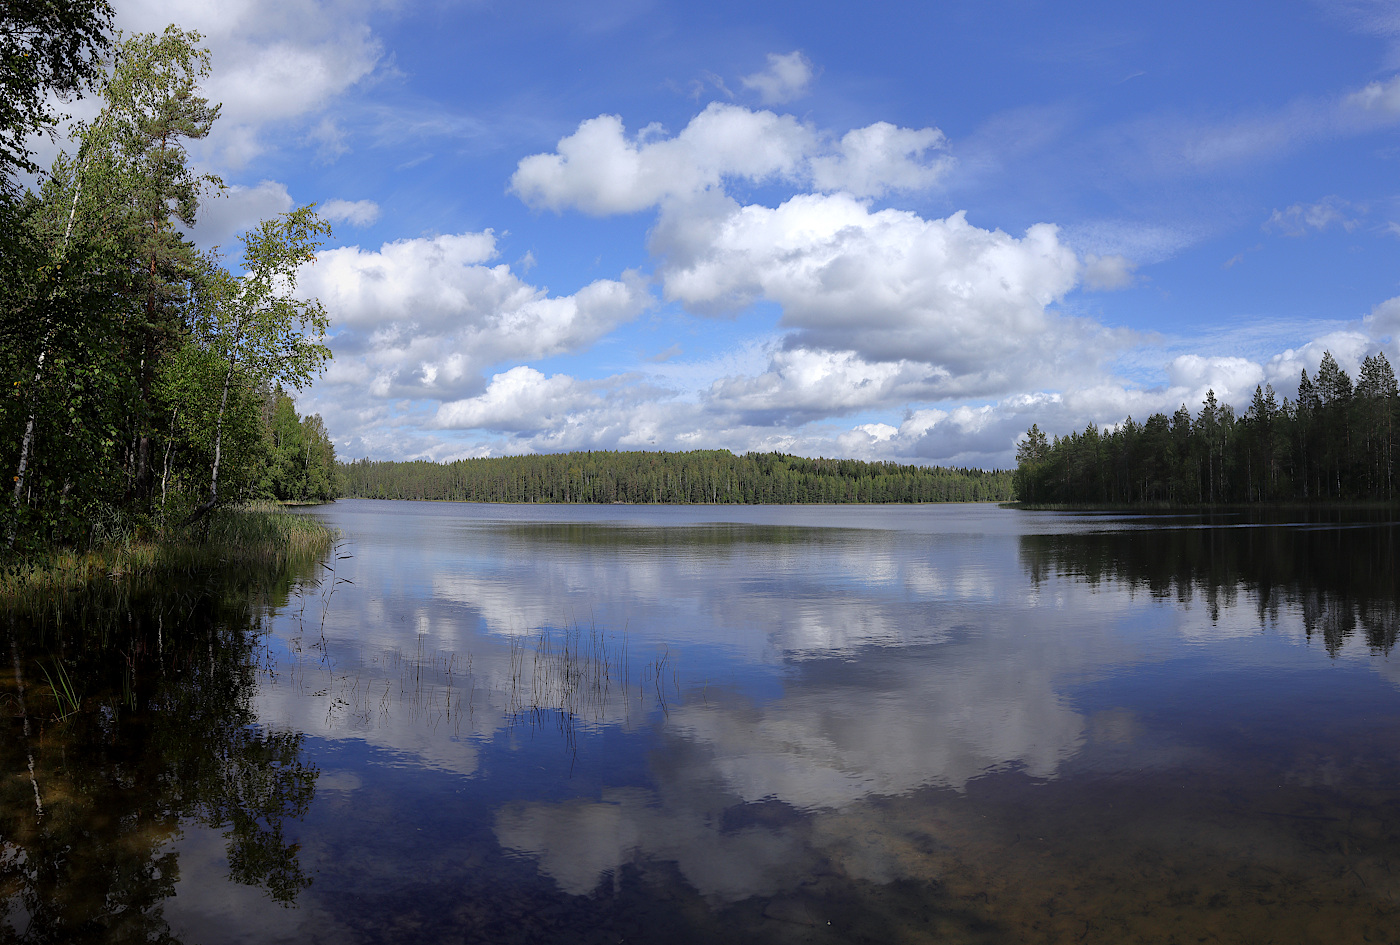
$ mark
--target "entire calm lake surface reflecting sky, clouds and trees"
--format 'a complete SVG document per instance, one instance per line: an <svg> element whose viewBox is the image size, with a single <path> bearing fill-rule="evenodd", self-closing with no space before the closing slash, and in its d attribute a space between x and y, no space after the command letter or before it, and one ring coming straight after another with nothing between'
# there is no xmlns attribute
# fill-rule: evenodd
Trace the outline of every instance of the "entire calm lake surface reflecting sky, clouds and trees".
<svg viewBox="0 0 1400 945"><path fill-rule="evenodd" d="M11 617L0 941L1366 942L1376 511L340 501Z"/></svg>

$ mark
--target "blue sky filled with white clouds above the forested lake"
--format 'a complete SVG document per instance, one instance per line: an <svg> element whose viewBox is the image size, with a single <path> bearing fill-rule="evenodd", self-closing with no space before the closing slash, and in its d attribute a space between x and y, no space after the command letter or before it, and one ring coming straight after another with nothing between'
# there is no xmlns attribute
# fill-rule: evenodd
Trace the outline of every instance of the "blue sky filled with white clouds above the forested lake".
<svg viewBox="0 0 1400 945"><path fill-rule="evenodd" d="M116 10L211 52L196 242L333 223L342 459L1008 468L1400 361L1400 3Z"/></svg>

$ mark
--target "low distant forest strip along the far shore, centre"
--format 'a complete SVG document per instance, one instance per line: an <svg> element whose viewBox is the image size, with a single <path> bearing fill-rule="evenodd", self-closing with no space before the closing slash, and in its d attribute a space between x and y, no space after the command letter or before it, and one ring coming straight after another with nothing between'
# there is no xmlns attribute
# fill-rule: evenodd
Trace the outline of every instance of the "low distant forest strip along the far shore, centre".
<svg viewBox="0 0 1400 945"><path fill-rule="evenodd" d="M1011 472L780 452L568 452L339 468L342 494L465 503L965 503L1011 498Z"/></svg>

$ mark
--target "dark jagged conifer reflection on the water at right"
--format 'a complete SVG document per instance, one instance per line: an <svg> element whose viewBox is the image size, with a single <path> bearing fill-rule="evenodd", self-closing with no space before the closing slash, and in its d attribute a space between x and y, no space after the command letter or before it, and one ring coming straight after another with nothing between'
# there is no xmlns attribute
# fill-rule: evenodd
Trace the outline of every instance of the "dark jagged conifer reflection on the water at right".
<svg viewBox="0 0 1400 945"><path fill-rule="evenodd" d="M1163 518L1162 528L1022 535L1032 584L1065 575L1154 598L1200 601L1212 622L1245 594L1260 626L1296 610L1309 640L1336 654L1359 631L1389 654L1400 634L1400 525L1365 515L1302 524L1242 517Z"/></svg>

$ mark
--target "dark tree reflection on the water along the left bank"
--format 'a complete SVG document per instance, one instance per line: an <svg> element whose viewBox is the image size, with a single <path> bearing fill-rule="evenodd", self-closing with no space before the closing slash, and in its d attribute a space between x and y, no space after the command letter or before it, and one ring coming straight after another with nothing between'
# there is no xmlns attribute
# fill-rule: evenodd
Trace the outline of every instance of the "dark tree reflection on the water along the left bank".
<svg viewBox="0 0 1400 945"><path fill-rule="evenodd" d="M182 823L221 830L230 879L277 903L311 883L288 829L316 769L252 694L263 613L319 573L99 582L3 617L0 939L175 941Z"/></svg>

